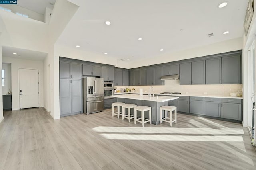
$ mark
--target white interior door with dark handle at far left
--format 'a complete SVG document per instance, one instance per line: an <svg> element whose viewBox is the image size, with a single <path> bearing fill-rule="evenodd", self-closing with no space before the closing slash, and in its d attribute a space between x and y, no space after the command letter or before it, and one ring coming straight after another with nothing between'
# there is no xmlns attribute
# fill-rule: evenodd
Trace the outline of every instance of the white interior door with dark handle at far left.
<svg viewBox="0 0 256 170"><path fill-rule="evenodd" d="M19 69L20 109L39 107L39 74L38 70Z"/></svg>

